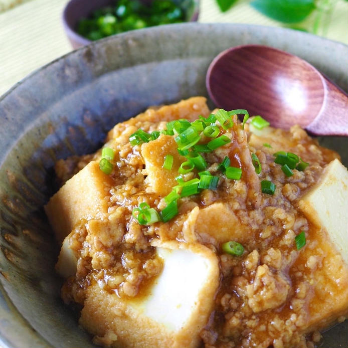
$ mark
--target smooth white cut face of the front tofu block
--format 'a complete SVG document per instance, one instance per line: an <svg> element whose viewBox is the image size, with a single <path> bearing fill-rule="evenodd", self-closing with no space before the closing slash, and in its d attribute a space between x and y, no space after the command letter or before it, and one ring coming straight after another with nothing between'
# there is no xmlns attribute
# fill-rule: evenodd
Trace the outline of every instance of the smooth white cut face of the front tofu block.
<svg viewBox="0 0 348 348"><path fill-rule="evenodd" d="M197 308L214 265L202 254L187 249L157 248L157 253L164 261L162 273L150 295L136 307L143 315L178 331Z"/></svg>

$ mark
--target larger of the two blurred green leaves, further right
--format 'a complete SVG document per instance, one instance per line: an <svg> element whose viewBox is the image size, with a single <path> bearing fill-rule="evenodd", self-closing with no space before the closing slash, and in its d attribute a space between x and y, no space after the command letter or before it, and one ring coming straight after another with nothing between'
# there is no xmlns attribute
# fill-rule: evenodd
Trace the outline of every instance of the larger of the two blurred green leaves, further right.
<svg viewBox="0 0 348 348"><path fill-rule="evenodd" d="M314 0L254 0L250 5L282 23L301 22L315 9Z"/></svg>

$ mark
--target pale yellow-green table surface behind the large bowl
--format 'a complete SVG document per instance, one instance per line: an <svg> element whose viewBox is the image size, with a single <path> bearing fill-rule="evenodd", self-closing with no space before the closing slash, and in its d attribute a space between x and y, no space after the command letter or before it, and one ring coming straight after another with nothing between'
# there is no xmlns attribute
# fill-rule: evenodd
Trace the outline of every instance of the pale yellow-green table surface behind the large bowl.
<svg viewBox="0 0 348 348"><path fill-rule="evenodd" d="M9 0L0 0L0 10ZM24 0L15 0L21 2ZM30 0L0 12L0 95L39 67L72 50L61 16L67 0ZM322 36L348 44L348 2L337 0ZM238 0L222 13L215 0L201 0L199 22L279 24Z"/></svg>

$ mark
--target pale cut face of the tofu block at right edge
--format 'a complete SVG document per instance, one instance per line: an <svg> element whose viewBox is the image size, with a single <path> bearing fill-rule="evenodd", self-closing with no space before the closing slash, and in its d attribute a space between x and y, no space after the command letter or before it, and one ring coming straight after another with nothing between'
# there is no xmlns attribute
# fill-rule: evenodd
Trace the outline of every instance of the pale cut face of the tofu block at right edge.
<svg viewBox="0 0 348 348"><path fill-rule="evenodd" d="M314 225L326 229L348 265L348 171L338 159L326 165L298 206Z"/></svg>

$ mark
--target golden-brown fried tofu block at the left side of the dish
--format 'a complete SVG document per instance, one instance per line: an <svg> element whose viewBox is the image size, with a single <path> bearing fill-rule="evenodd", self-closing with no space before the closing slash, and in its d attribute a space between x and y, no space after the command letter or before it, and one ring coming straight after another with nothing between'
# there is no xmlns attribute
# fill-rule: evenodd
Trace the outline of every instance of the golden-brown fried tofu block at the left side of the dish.
<svg viewBox="0 0 348 348"><path fill-rule="evenodd" d="M45 212L61 244L81 219L102 218L108 210L111 177L97 161L88 163L51 197Z"/></svg>

